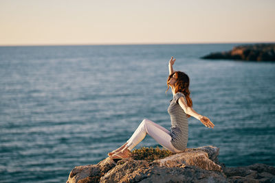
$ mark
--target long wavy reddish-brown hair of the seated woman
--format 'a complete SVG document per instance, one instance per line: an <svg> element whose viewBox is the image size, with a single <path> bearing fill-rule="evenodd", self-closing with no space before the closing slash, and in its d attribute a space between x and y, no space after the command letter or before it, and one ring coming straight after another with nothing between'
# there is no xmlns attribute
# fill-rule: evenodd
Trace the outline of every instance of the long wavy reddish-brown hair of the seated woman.
<svg viewBox="0 0 275 183"><path fill-rule="evenodd" d="M190 91L189 91L189 84L190 84L190 80L188 75L186 75L186 73L181 72L181 71L175 71L174 73L170 74L168 76L167 79L167 90L165 93L167 93L167 91L169 90L170 86L168 84L169 80L171 77L173 77L173 75L175 74L175 93L181 92L184 94L184 96L186 97L186 101L187 101L187 106L189 106L190 108L192 108L192 99L190 98ZM191 117L190 115L186 114L187 117Z"/></svg>

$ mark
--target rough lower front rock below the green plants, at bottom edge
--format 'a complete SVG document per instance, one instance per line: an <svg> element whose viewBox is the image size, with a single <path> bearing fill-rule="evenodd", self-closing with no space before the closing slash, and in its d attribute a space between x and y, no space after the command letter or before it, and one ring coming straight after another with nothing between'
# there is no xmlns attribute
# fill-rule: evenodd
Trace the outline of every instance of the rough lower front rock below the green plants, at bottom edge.
<svg viewBox="0 0 275 183"><path fill-rule="evenodd" d="M107 173L101 178L100 182L226 182L222 173L215 171L206 171L196 166L186 167L160 167L142 166L131 160L124 164L117 165L115 170ZM131 167L130 169L128 169Z"/></svg>

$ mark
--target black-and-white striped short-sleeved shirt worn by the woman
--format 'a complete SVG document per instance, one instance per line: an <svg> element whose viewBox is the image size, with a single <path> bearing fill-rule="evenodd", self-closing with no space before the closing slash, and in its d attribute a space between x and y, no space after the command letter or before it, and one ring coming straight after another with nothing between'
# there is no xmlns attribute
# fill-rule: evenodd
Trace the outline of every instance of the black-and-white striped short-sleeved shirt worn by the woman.
<svg viewBox="0 0 275 183"><path fill-rule="evenodd" d="M184 110L181 108L181 106L179 106L178 99L180 97L184 97L184 101L187 104L184 94L176 93L173 96L173 99L170 101L168 114L170 114L171 119L171 143L176 149L182 151L187 147L188 119Z"/></svg>

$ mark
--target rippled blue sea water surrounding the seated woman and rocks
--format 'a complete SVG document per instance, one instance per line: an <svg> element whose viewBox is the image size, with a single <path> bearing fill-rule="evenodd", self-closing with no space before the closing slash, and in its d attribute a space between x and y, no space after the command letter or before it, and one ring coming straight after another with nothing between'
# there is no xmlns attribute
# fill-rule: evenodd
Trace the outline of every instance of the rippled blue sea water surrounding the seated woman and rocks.
<svg viewBox="0 0 275 183"><path fill-rule="evenodd" d="M235 45L0 47L0 182L65 182L144 118L170 130L170 56L190 77L193 109L215 125L189 118L188 148L219 147L227 167L275 166L275 64L199 58Z"/></svg>

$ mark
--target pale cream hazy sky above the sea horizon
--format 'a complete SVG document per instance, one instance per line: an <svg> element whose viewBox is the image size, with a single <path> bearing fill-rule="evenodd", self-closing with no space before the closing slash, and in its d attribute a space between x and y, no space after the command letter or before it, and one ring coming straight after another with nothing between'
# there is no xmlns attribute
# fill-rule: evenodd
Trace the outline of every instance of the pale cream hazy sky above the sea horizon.
<svg viewBox="0 0 275 183"><path fill-rule="evenodd" d="M274 0L0 0L0 45L275 42Z"/></svg>

